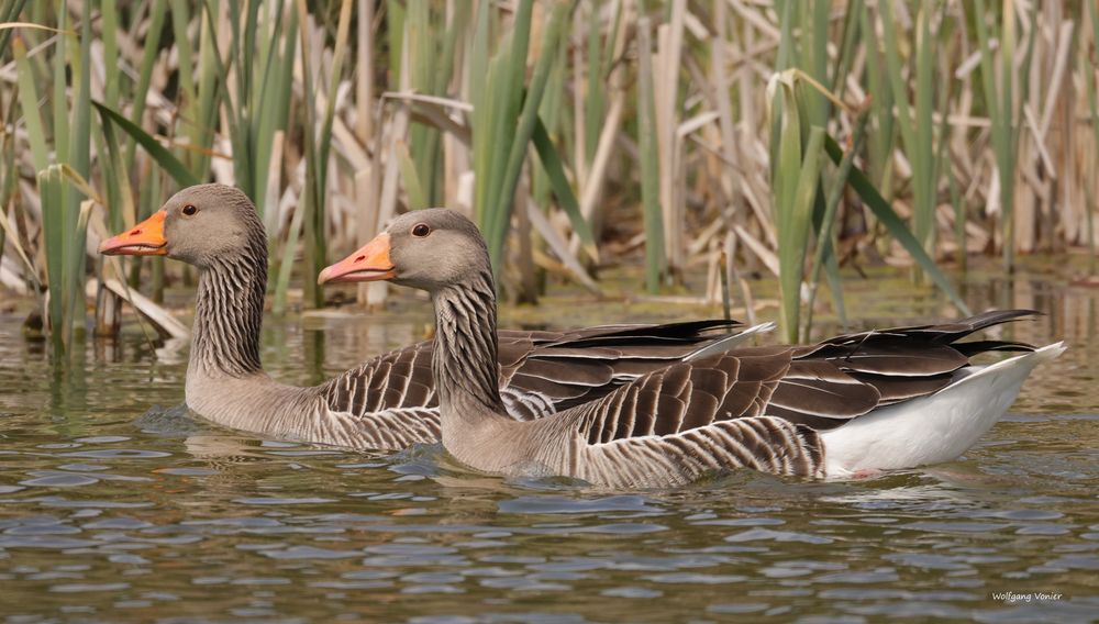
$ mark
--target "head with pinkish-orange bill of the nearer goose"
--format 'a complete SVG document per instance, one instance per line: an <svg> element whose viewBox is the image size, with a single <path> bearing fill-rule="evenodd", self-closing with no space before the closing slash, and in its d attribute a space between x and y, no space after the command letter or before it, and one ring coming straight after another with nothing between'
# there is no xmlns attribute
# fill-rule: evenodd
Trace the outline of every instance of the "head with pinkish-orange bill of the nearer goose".
<svg viewBox="0 0 1099 624"><path fill-rule="evenodd" d="M436 292L489 268L480 231L445 208L398 216L364 247L325 268L318 283L389 280Z"/></svg>

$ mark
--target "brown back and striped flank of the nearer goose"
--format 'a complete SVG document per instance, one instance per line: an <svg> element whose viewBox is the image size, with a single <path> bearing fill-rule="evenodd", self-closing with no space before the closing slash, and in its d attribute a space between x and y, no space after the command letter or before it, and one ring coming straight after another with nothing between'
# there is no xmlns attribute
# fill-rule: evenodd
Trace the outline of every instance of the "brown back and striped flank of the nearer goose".
<svg viewBox="0 0 1099 624"><path fill-rule="evenodd" d="M535 442L525 452L537 454L539 465L550 471L611 487L679 484L740 467L821 477L822 432L947 388L964 376L972 355L1033 350L1009 341L956 342L1026 314L1033 312L863 332L810 346L748 347L676 363L531 430L528 435ZM536 448L554 450L532 450ZM513 458L497 463L504 471L521 464Z"/></svg>

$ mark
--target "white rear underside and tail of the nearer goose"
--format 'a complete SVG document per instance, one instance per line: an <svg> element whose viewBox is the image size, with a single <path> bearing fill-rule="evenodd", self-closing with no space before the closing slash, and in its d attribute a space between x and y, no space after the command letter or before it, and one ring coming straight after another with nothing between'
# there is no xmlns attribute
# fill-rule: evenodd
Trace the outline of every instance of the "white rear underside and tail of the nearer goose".
<svg viewBox="0 0 1099 624"><path fill-rule="evenodd" d="M1065 352L1044 346L983 367L968 367L929 397L904 401L823 432L825 472L912 468L950 461L966 452L1003 416L1034 367Z"/></svg>

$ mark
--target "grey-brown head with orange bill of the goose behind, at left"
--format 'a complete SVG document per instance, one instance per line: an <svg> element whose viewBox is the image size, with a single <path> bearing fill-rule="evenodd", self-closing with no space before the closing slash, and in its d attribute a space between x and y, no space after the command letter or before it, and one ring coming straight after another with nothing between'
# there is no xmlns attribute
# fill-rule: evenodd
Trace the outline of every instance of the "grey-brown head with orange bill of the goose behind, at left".
<svg viewBox="0 0 1099 624"><path fill-rule="evenodd" d="M103 241L99 253L167 256L198 267L263 249L266 235L248 196L226 185L198 185L174 194L152 216Z"/></svg>

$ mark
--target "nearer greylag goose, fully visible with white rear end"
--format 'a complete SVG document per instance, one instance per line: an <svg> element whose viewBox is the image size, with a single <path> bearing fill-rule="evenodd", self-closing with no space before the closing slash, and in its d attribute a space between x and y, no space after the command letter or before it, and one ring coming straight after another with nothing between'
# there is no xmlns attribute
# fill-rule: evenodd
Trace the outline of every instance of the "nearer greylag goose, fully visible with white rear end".
<svg viewBox="0 0 1099 624"><path fill-rule="evenodd" d="M989 312L693 358L517 422L497 389L496 288L471 222L444 209L404 214L321 281L334 278L387 279L431 294L443 445L457 459L488 472L612 488L677 486L740 467L843 478L954 459L999 420L1039 363L1064 350L1059 343L958 342L1033 314ZM990 350L1025 353L969 364Z"/></svg>

